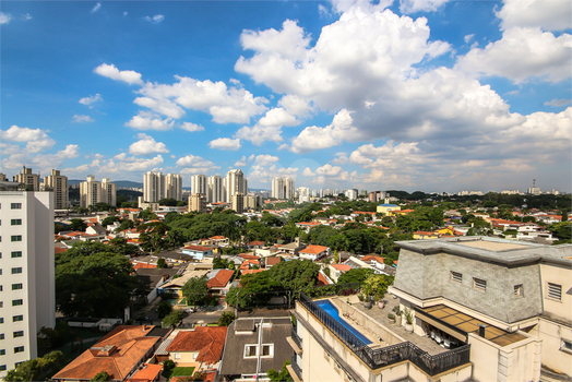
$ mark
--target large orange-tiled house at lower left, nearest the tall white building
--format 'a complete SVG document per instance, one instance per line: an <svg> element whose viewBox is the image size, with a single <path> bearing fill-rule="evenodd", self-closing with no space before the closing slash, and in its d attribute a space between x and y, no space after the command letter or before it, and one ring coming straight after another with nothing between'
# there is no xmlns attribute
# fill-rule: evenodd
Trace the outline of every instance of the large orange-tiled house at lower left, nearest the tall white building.
<svg viewBox="0 0 572 382"><path fill-rule="evenodd" d="M52 377L53 381L90 381L106 371L110 381L131 377L157 349L170 330L121 325L82 353Z"/></svg>

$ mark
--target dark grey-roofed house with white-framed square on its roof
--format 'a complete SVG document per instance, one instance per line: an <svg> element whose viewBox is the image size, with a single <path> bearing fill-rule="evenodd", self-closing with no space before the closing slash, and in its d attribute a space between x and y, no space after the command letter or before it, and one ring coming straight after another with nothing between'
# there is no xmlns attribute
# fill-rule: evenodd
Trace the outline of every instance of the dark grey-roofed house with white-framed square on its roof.
<svg viewBox="0 0 572 382"><path fill-rule="evenodd" d="M257 381L270 369L281 370L294 356L287 337L291 335L291 319L240 318L228 326L226 345L219 368L223 381Z"/></svg>

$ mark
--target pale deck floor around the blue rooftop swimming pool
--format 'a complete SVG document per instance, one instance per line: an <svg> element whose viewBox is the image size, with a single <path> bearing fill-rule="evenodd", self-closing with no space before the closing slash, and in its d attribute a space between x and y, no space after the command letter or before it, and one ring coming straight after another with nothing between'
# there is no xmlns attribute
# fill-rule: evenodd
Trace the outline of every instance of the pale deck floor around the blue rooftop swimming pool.
<svg viewBox="0 0 572 382"><path fill-rule="evenodd" d="M341 297L341 301L346 301L346 297ZM432 341L429 337L421 337L418 336L415 333L408 333L405 331L404 326L397 326L394 323L391 323L388 319L388 313L393 312L393 307L397 306L400 303L400 299L393 299L391 295L386 295L383 299L385 301L385 307L383 309L380 309L378 306L373 306L371 309L364 308L364 303L359 301L357 296L351 296L349 298L349 301L351 302L351 307L359 310L361 313L364 313L366 317L368 317L370 320L380 323L381 325L385 326L389 331L393 332L397 336L402 337L404 341L408 341L422 350L429 353L430 355L438 355L441 353L449 351L449 349L441 347L438 345L434 341ZM347 302L343 302L347 303ZM356 323L356 321L351 320L349 317L343 317L343 319L350 323L354 329L359 331L361 334L364 334L366 337L371 339L373 345L380 345L380 346L388 346L389 344L384 343L383 341L380 341L376 333L373 333L371 330L364 327Z"/></svg>

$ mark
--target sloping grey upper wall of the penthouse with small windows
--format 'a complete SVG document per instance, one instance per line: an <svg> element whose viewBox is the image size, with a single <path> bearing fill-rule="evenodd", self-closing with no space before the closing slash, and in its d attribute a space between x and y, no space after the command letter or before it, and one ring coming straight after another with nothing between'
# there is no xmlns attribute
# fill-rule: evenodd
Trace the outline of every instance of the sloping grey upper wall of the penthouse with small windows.
<svg viewBox="0 0 572 382"><path fill-rule="evenodd" d="M451 272L463 275L461 283ZM474 287L473 278L487 282L487 289ZM537 264L508 267L448 253L424 255L402 249L394 287L419 299L444 297L503 322L516 322L541 314L540 272ZM523 296L514 286L523 285Z"/></svg>

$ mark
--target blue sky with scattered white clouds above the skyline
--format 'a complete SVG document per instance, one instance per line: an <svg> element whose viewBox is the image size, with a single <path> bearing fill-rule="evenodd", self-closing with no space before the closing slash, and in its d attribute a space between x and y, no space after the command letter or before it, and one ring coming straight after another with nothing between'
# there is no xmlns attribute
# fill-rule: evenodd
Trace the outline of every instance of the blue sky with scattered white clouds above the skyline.
<svg viewBox="0 0 572 382"><path fill-rule="evenodd" d="M571 9L2 2L0 171L570 192Z"/></svg>

